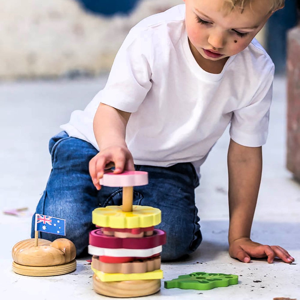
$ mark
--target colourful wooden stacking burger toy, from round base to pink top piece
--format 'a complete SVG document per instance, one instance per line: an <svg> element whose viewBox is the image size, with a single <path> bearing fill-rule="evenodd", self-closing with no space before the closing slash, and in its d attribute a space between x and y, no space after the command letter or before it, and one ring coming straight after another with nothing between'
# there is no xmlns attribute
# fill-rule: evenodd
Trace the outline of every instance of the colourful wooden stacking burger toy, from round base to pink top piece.
<svg viewBox="0 0 300 300"><path fill-rule="evenodd" d="M96 208L92 212L92 222L99 227L90 232L88 246L93 255L95 292L119 298L158 292L163 278L160 253L166 233L154 226L161 222L161 211L132 205L133 187L148 184L148 173L108 172L100 184L123 187L123 196L121 206Z"/></svg>

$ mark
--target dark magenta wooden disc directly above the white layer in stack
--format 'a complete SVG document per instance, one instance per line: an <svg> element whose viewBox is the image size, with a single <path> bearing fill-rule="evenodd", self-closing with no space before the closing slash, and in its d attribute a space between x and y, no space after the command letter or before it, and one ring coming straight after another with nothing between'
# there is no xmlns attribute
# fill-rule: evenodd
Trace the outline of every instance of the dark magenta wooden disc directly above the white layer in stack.
<svg viewBox="0 0 300 300"><path fill-rule="evenodd" d="M89 244L110 249L149 249L166 244L166 232L154 229L153 235L143 238L117 238L104 235L101 229L90 232Z"/></svg>

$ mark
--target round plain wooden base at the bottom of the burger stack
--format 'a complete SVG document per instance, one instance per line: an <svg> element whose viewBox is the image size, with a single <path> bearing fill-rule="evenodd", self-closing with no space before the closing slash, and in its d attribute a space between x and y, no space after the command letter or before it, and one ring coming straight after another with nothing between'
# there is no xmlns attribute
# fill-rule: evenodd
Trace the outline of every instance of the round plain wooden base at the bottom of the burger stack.
<svg viewBox="0 0 300 300"><path fill-rule="evenodd" d="M94 274L93 287L96 293L105 296L117 298L142 297L158 292L161 288L161 280L152 279L103 282L96 276L96 274Z"/></svg>

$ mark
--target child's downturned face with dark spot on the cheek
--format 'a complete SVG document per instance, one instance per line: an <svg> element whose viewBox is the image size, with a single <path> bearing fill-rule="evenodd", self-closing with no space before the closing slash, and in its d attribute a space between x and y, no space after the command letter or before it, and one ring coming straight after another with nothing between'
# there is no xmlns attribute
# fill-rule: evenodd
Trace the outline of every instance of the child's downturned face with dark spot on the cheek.
<svg viewBox="0 0 300 300"><path fill-rule="evenodd" d="M203 58L211 61L244 50L271 16L269 0L254 0L251 8L247 5L242 13L238 8L224 11L224 0L184 2L185 25L190 43Z"/></svg>

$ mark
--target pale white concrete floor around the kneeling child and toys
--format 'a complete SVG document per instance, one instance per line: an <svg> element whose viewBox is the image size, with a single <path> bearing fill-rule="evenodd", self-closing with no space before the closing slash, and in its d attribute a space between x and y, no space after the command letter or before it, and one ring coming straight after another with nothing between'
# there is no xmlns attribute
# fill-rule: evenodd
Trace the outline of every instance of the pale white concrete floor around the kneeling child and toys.
<svg viewBox="0 0 300 300"><path fill-rule="evenodd" d="M2 214L10 208L28 207L32 213L51 169L48 140L75 109L83 109L101 89L106 76L58 82L0 84L1 180L0 180L0 274L2 299L104 299L92 290L92 271L84 260L77 261L71 274L26 277L11 270L11 248L29 238L30 217ZM274 82L270 130L263 147L264 167L252 238L263 244L279 244L295 257L294 264L265 259L249 264L227 253L228 205L226 151L228 132L218 141L202 168L196 190L203 242L188 259L162 265L164 280L195 271L232 273L239 283L208 291L164 289L149 299L273 299L300 300L300 184L285 168L285 78Z"/></svg>

